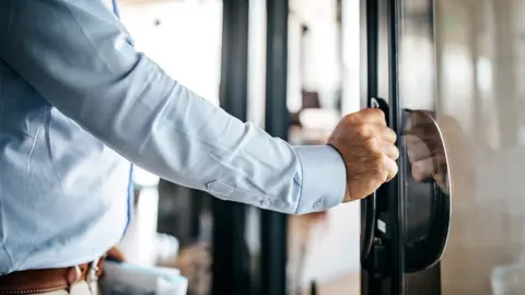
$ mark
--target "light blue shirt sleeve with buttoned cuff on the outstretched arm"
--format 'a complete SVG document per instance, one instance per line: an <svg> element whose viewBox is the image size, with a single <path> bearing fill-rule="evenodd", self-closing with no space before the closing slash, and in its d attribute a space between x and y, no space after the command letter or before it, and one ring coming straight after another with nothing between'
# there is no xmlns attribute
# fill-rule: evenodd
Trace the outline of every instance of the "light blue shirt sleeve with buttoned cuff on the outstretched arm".
<svg viewBox="0 0 525 295"><path fill-rule="evenodd" d="M129 38L102 1L0 1L0 58L133 164L283 213L342 201L346 170L332 148L293 148L237 120L171 79Z"/></svg>

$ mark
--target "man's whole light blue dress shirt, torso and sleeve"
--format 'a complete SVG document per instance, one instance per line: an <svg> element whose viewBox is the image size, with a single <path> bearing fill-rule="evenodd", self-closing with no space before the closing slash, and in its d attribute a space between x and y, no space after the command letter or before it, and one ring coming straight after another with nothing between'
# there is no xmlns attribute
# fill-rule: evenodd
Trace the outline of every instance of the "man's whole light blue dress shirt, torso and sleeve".
<svg viewBox="0 0 525 295"><path fill-rule="evenodd" d="M117 244L129 162L290 214L341 202L332 148L291 146L235 119L129 38L102 1L0 1L0 274L88 262Z"/></svg>

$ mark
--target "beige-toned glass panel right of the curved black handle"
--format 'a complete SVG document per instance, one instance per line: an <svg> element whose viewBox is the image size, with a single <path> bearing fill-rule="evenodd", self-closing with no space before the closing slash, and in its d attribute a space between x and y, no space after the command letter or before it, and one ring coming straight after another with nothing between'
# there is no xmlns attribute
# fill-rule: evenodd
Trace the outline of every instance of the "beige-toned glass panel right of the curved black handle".
<svg viewBox="0 0 525 295"><path fill-rule="evenodd" d="M525 4L435 3L439 122L454 191L442 288L445 295L491 294L491 278L495 287L501 283L497 268L525 263ZM525 280L520 267L506 270Z"/></svg>

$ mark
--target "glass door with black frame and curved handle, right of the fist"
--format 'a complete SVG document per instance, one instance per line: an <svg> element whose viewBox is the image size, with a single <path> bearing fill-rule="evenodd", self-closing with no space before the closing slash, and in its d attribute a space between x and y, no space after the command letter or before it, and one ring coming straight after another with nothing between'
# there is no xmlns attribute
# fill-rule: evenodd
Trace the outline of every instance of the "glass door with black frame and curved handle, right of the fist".
<svg viewBox="0 0 525 295"><path fill-rule="evenodd" d="M362 3L362 106L401 152L362 205L363 294L522 294L524 1Z"/></svg>

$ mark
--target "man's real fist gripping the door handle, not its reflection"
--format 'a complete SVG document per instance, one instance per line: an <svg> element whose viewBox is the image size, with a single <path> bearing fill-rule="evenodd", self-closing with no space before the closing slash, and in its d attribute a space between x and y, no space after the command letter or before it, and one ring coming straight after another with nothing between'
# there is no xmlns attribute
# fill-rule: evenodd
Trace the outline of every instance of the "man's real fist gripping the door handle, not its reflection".
<svg viewBox="0 0 525 295"><path fill-rule="evenodd" d="M374 192L397 174L399 151L396 133L386 126L385 114L368 108L345 116L328 140L342 156L347 169L343 202Z"/></svg>

